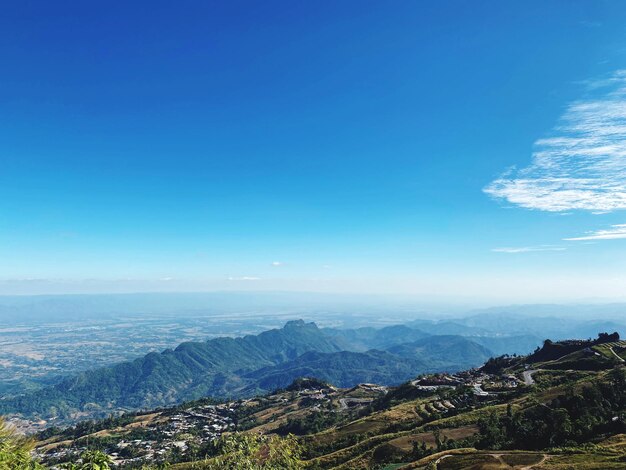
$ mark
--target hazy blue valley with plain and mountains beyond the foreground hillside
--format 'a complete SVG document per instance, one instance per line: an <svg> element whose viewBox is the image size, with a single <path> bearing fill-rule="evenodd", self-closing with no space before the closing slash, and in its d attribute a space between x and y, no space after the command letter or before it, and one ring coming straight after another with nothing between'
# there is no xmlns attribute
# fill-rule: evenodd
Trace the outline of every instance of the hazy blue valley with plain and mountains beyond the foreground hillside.
<svg viewBox="0 0 626 470"><path fill-rule="evenodd" d="M310 311L305 318L316 317L319 325L291 320L269 330L265 325L282 322L283 315L198 314L181 320L155 314L126 321L103 315L81 325L14 327L0 332L6 376L0 413L35 432L206 396L248 398L302 376L348 388L362 382L397 385L420 373L456 372L492 356L528 354L541 344L537 324L556 339L570 332L590 337L599 327L625 329L615 321L588 320L572 320L563 329L557 317L520 322L494 313L386 325L370 315L348 321ZM16 364L19 351L26 364ZM596 352L619 357L621 351L616 344Z"/></svg>

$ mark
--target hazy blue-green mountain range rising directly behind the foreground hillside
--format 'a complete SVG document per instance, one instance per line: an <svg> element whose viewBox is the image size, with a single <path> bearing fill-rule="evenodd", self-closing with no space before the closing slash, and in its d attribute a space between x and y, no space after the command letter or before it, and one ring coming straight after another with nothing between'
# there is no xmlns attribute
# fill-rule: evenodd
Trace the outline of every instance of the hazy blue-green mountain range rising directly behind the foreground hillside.
<svg viewBox="0 0 626 470"><path fill-rule="evenodd" d="M362 382L397 385L423 373L479 366L504 353L528 354L542 343L540 336L528 333L495 334L489 327L500 329L507 320L487 316L494 317L491 323L470 317L379 329L320 329L315 323L290 321L258 335L186 342L173 350L82 372L41 390L0 399L0 414L68 423L206 396L263 394L303 376L341 387ZM535 320L537 328L554 326L553 319ZM517 333L513 326L511 331ZM600 328L596 333L613 326L593 324Z"/></svg>

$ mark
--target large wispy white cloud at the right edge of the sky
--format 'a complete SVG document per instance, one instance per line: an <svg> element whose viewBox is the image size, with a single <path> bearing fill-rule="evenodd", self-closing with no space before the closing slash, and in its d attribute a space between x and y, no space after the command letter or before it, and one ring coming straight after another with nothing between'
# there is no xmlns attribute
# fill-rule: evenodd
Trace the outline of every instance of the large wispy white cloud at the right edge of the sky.
<svg viewBox="0 0 626 470"><path fill-rule="evenodd" d="M626 70L588 88L595 98L568 106L532 163L484 188L494 198L550 212L626 209Z"/></svg>

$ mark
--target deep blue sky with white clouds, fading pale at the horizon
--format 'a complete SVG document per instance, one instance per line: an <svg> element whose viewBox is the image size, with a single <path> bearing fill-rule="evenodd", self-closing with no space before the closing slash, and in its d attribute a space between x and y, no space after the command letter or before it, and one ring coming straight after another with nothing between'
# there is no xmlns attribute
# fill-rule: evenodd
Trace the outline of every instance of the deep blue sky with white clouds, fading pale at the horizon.
<svg viewBox="0 0 626 470"><path fill-rule="evenodd" d="M0 293L626 292L623 2L4 10Z"/></svg>

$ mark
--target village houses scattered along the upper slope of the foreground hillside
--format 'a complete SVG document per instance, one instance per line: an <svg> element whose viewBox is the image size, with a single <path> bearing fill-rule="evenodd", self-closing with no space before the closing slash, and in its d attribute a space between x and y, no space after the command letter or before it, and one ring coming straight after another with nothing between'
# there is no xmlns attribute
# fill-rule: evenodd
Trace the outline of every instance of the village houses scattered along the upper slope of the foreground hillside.
<svg viewBox="0 0 626 470"><path fill-rule="evenodd" d="M308 381L307 381L308 380ZM493 398L523 383L512 375L486 374L478 369L455 374L421 376L410 384L424 397L432 396L420 406L421 413L446 414L468 405L472 394L477 399ZM469 395L441 398L446 390L466 387ZM337 389L315 379L300 379L299 386L280 393L214 404L199 402L150 414L139 414L130 424L97 431L77 439L46 443L38 456L51 468L75 461L87 449L100 449L113 459L117 468L139 468L146 462L177 462L203 458L224 433L255 426L275 431L283 422L281 416L297 413L326 412L340 415L364 409L387 394L389 388L376 384L359 384L351 389Z"/></svg>

